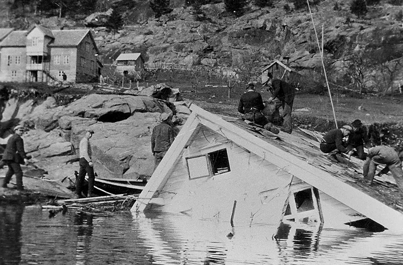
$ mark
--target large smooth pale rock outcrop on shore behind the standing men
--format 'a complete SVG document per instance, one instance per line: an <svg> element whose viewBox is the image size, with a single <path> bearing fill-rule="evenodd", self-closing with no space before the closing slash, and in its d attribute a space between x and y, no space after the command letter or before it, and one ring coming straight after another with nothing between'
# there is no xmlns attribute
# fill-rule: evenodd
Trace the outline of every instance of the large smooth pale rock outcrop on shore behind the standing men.
<svg viewBox="0 0 403 265"><path fill-rule="evenodd" d="M179 128L189 115L184 102L92 94L67 106L56 106L52 97L41 104L10 100L3 121L9 121L10 127L20 123L30 128L23 136L26 152L49 177L74 175L79 168L79 142L86 128L91 128L95 131L91 144L98 176L137 178L153 172L151 133L162 112L175 113L174 121ZM7 141L5 137L3 143Z"/></svg>

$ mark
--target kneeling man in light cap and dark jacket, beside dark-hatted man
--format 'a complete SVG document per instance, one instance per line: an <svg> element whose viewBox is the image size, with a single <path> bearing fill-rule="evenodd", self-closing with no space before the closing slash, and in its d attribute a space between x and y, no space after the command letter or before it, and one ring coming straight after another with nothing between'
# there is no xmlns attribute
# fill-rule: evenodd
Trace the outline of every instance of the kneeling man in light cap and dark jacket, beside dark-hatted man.
<svg viewBox="0 0 403 265"><path fill-rule="evenodd" d="M343 143L343 138L350 135L353 128L350 125L344 125L340 129L331 129L329 130L322 138L320 142L320 151L325 154L327 159L332 162L339 162L336 154L337 153L346 153L351 155L354 150L350 148L346 148Z"/></svg>

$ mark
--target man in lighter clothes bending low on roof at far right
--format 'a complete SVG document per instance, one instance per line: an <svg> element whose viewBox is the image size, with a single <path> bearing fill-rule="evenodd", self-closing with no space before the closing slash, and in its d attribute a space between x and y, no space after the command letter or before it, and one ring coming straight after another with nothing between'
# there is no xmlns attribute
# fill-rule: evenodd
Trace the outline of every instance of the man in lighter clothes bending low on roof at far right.
<svg viewBox="0 0 403 265"><path fill-rule="evenodd" d="M375 146L370 148L363 166L364 179L366 179L369 184L372 184L376 167L378 165L386 165L378 173L378 176L386 174L390 170L397 186L403 193L403 171L401 170L401 160L403 160L403 151L398 154L393 148L388 146Z"/></svg>

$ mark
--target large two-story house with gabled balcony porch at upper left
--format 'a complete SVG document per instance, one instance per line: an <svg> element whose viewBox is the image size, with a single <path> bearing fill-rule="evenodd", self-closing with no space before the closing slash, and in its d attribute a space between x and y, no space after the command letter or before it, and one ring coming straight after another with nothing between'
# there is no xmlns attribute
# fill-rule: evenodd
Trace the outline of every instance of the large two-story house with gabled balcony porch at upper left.
<svg viewBox="0 0 403 265"><path fill-rule="evenodd" d="M1 32L1 30L0 30ZM35 25L0 42L0 82L90 82L99 79L98 48L90 30Z"/></svg>

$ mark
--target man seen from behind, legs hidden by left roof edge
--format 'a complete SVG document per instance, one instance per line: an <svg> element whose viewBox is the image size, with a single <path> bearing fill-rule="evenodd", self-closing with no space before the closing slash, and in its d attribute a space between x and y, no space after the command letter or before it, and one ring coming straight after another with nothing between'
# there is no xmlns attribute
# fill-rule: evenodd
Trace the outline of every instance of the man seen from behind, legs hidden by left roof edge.
<svg viewBox="0 0 403 265"><path fill-rule="evenodd" d="M151 151L154 156L154 170L160 164L176 137L170 113L160 114L161 123L154 127L151 135Z"/></svg>

